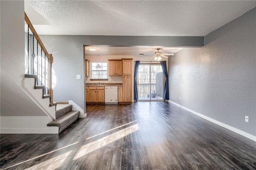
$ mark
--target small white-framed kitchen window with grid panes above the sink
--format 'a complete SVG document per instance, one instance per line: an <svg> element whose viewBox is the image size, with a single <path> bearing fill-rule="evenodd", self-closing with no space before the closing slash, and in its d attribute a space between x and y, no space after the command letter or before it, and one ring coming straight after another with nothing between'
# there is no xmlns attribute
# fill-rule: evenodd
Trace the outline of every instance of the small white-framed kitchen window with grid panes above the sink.
<svg viewBox="0 0 256 170"><path fill-rule="evenodd" d="M91 63L91 79L107 79L108 63Z"/></svg>

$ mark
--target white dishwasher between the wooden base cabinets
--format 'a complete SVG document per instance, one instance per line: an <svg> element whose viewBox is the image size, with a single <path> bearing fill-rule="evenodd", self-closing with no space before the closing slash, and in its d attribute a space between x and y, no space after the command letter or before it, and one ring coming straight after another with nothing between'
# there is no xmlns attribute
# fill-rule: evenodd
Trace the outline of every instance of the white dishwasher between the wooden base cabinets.
<svg viewBox="0 0 256 170"><path fill-rule="evenodd" d="M105 86L105 104L118 104L117 86Z"/></svg>

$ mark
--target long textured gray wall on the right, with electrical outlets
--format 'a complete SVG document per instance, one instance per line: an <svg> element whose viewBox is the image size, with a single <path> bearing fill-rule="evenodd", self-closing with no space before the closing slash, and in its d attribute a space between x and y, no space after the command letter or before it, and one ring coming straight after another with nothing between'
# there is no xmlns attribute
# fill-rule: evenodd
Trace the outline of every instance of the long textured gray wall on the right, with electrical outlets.
<svg viewBox="0 0 256 170"><path fill-rule="evenodd" d="M204 41L168 60L170 101L255 136L256 8Z"/></svg>

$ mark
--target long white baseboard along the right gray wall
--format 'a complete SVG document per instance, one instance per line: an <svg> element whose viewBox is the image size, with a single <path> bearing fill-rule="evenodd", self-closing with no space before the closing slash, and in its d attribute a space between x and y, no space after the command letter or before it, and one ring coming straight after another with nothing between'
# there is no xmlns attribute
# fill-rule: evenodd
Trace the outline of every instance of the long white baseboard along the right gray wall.
<svg viewBox="0 0 256 170"><path fill-rule="evenodd" d="M212 119L212 118L210 118L210 117L207 117L207 116L205 116L205 115L202 115L202 114L200 114L200 113L197 113L197 112L195 112L195 111L192 111L191 109L188 109L188 108L186 108L186 107L184 107L184 106L181 106L181 105L179 105L178 103L175 103L175 102L173 102L173 101L168 100L168 102L169 102L169 103L172 103L173 105L176 105L176 106L178 106L178 107L180 107L180 108L182 108L182 109L184 109L184 110L186 110L186 111L189 111L190 113L193 113L194 115L197 115L197 116L199 116L199 117L202 117L203 119L206 119L207 121L210 121L210 122L212 122L212 123L215 123L216 125L219 125L219 126L224 127L224 128L226 128L226 129L228 129L228 130L231 130L231 131L233 131L233 132L236 132L237 134L240 134L240 135L242 135L242 136L244 136L244 137L246 137L246 138L249 138L249 139L251 139L251 140L253 140L253 141L256 142L256 136L253 136L252 134L249 134L249 133L247 133L247 132L244 132L244 131L242 131L242 130L239 130L238 128L234 128L234 127L232 127L232 126L230 126L230 125L226 125L226 124L224 124L224 123L222 123L222 122L216 121L215 119Z"/></svg>

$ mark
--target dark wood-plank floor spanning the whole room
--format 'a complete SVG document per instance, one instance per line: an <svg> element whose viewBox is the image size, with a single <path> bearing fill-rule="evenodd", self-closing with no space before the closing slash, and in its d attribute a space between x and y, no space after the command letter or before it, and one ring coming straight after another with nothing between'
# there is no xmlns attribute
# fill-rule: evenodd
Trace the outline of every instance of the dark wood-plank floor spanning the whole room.
<svg viewBox="0 0 256 170"><path fill-rule="evenodd" d="M1 134L1 169L256 169L256 142L170 103L86 112L61 134Z"/></svg>

